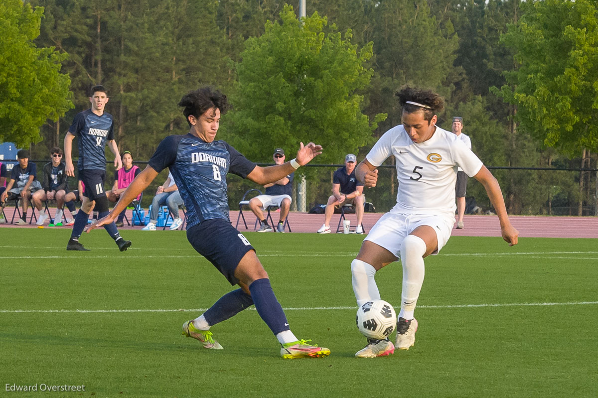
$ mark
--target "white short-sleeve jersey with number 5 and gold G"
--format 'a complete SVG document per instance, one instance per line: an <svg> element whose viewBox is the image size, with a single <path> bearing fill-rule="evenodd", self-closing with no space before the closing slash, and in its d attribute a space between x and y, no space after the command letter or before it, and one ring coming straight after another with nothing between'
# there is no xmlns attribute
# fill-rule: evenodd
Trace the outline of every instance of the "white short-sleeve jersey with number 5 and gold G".
<svg viewBox="0 0 598 398"><path fill-rule="evenodd" d="M455 134L438 126L431 139L415 143L403 125L397 125L380 137L366 158L378 167L391 155L399 183L391 213L454 217L457 167L472 177L483 166Z"/></svg>

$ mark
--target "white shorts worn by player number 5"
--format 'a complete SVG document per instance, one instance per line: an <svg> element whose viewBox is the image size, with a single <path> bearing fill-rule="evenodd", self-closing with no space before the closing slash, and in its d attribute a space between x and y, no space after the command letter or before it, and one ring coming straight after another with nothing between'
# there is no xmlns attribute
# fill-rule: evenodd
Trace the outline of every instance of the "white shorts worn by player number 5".
<svg viewBox="0 0 598 398"><path fill-rule="evenodd" d="M386 213L370 229L365 237L384 247L397 258L401 258L401 243L408 234L413 232L420 225L428 225L436 231L438 249L432 255L437 255L440 249L449 241L453 231L454 219L443 215L411 215Z"/></svg>

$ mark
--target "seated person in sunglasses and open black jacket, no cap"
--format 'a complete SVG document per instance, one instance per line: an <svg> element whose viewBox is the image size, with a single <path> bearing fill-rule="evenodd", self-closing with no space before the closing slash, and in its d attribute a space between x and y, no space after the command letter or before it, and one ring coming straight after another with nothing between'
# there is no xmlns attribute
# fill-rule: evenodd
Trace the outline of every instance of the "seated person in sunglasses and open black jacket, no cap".
<svg viewBox="0 0 598 398"><path fill-rule="evenodd" d="M39 189L31 195L33 205L39 210L39 218L35 223L37 225L44 225L44 221L48 218L45 213L42 213L42 204L46 200L56 200L56 215L54 216L54 224L62 225L62 208L65 205L65 195L67 191L65 163L62 161L62 149L52 148L50 152L51 161L44 165L43 177L41 179L41 186L44 189Z"/></svg>

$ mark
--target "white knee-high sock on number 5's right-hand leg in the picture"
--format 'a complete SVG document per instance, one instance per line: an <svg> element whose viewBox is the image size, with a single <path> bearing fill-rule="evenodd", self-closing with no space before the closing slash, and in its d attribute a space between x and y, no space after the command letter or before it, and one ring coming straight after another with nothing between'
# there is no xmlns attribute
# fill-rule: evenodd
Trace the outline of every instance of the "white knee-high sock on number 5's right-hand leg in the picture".
<svg viewBox="0 0 598 398"><path fill-rule="evenodd" d="M419 292L422 290L425 267L423 255L426 243L416 235L407 235L401 243L401 264L403 266L403 289L399 317L413 319Z"/></svg>

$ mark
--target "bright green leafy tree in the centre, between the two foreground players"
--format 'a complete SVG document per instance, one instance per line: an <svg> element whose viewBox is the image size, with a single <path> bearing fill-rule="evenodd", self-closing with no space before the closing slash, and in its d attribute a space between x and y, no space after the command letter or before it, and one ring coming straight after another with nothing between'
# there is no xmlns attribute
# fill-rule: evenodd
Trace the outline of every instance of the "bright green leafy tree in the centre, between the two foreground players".
<svg viewBox="0 0 598 398"><path fill-rule="evenodd" d="M285 6L280 19L246 41L225 133L255 160L271 161L276 146L295 150L300 141L311 140L325 148L320 163L337 163L369 143L385 117L363 115L363 97L355 93L373 73L363 66L371 44L361 49L350 44L350 30L344 38L324 33L327 19L317 13L302 23Z"/></svg>

